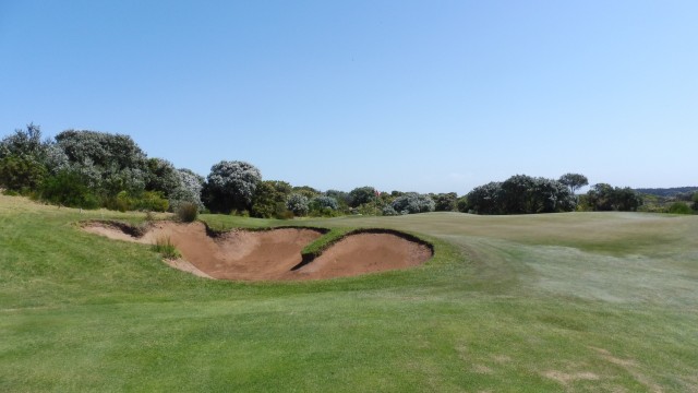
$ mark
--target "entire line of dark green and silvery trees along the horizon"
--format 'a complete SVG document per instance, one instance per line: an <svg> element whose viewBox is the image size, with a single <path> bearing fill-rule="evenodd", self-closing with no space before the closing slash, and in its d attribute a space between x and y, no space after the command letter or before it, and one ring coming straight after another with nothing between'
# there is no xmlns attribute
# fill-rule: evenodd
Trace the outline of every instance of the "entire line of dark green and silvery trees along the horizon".
<svg viewBox="0 0 698 393"><path fill-rule="evenodd" d="M455 192L380 192L358 187L349 192L320 191L264 180L258 168L239 160L221 160L206 178L149 158L123 134L67 130L43 139L38 126L15 130L0 141L0 187L5 193L29 195L49 203L83 209L203 212L255 217L336 216L344 214L401 215L425 212L534 214L575 210L635 211L642 199L629 188L600 183L586 195L576 191L589 182L583 175L558 179L515 175L505 181Z"/></svg>

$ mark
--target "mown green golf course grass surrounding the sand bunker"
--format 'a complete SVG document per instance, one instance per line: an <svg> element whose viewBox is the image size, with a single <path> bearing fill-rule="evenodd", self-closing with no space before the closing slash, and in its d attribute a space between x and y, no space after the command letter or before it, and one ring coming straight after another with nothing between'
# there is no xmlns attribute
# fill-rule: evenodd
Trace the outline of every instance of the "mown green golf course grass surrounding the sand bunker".
<svg viewBox="0 0 698 393"><path fill-rule="evenodd" d="M0 196L0 391L698 391L698 216L201 218L393 228L435 257L216 282L74 224L143 214Z"/></svg>

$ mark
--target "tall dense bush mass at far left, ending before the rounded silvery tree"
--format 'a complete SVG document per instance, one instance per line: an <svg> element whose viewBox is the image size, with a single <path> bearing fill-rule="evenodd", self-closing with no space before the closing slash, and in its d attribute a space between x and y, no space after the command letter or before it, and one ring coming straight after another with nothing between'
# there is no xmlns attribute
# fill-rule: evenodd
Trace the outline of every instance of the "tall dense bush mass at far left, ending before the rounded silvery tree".
<svg viewBox="0 0 698 393"><path fill-rule="evenodd" d="M148 159L128 135L68 130L41 140L29 124L0 142L0 187L75 207L165 211L201 202L203 178Z"/></svg>

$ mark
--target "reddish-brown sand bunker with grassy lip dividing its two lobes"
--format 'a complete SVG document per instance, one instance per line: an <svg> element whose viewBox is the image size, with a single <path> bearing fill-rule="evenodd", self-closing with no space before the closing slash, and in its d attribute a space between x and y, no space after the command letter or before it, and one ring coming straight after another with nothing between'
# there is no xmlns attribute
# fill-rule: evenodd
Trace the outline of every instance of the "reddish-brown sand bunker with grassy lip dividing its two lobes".
<svg viewBox="0 0 698 393"><path fill-rule="evenodd" d="M432 257L425 245L389 233L350 235L312 261L301 250L322 236L316 229L278 228L233 230L217 237L207 235L202 223L153 224L136 237L125 225L91 222L89 233L111 239L153 245L169 237L182 259L168 261L172 267L218 279L316 279L346 277L419 265Z"/></svg>

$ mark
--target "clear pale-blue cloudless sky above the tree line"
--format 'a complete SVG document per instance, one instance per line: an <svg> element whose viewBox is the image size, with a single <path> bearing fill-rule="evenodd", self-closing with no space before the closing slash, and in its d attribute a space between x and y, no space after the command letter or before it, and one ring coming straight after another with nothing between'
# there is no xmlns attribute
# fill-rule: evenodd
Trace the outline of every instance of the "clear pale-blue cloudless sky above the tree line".
<svg viewBox="0 0 698 393"><path fill-rule="evenodd" d="M696 186L698 1L0 0L29 122L321 190Z"/></svg>

